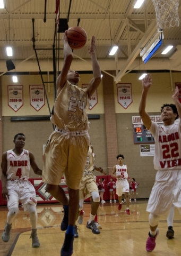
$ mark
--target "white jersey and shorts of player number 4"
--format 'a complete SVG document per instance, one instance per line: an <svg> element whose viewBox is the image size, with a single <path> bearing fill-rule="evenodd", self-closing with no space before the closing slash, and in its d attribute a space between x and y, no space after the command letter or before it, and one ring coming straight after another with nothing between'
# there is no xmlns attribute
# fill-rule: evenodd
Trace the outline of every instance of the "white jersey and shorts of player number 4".
<svg viewBox="0 0 181 256"><path fill-rule="evenodd" d="M19 206L21 201L24 211L27 204L37 205L35 188L29 179L30 157L28 150L23 149L21 155L16 155L13 150L7 151L7 190L9 199L8 209Z"/></svg>

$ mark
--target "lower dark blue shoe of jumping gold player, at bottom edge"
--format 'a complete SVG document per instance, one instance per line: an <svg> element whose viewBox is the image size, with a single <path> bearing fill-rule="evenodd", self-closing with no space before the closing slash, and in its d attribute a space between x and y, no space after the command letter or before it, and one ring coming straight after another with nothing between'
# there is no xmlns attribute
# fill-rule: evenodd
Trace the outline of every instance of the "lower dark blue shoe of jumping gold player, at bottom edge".
<svg viewBox="0 0 181 256"><path fill-rule="evenodd" d="M61 249L61 256L71 256L73 254L73 234L65 234L64 244Z"/></svg>

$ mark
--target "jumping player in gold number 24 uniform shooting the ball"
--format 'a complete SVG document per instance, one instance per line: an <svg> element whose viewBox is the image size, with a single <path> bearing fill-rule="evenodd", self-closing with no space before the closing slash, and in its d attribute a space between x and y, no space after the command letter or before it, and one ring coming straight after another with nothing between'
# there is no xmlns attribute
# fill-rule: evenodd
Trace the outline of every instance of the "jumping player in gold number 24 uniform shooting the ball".
<svg viewBox="0 0 181 256"><path fill-rule="evenodd" d="M79 73L70 70L73 52L66 36L64 42L64 63L56 81L57 97L51 115L51 122L56 125L50 135L44 153L42 181L47 183L47 190L64 207L61 229L66 230L61 256L73 253L74 225L79 210L79 185L87 160L90 144L88 134L89 98L101 82L101 70L96 58L95 37L92 36L89 53L92 59L93 78L87 89L77 86ZM59 186L65 173L69 201L64 190Z"/></svg>

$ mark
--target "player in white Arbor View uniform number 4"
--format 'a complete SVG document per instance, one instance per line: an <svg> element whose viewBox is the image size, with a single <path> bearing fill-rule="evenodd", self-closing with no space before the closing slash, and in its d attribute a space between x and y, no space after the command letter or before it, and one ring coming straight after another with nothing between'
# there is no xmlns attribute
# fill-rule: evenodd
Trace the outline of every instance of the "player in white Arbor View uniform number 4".
<svg viewBox="0 0 181 256"><path fill-rule="evenodd" d="M18 133L14 136L14 149L8 150L2 155L2 196L7 200L8 214L2 239L4 242L10 240L10 231L12 222L19 212L19 202L21 201L24 211L30 214L32 226L31 238L32 247L39 247L39 239L37 236L37 211L36 211L36 193L29 179L30 165L37 175L42 175L35 162L33 154L23 149L25 144L25 136Z"/></svg>

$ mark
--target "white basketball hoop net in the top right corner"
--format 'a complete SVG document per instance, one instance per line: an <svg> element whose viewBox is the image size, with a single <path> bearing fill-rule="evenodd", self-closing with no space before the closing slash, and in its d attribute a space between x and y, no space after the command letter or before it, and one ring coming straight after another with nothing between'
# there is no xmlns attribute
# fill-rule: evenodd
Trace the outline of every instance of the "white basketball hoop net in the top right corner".
<svg viewBox="0 0 181 256"><path fill-rule="evenodd" d="M158 28L179 26L178 0L152 0Z"/></svg>

